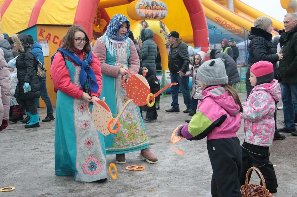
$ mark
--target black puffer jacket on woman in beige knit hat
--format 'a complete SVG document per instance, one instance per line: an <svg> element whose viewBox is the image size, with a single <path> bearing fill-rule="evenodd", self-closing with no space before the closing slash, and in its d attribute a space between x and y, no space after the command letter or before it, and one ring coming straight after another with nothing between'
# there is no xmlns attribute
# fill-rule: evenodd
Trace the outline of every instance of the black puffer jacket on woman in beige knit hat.
<svg viewBox="0 0 297 197"><path fill-rule="evenodd" d="M276 54L277 50L274 48L274 45L271 42L272 34L260 28L251 27L251 33L248 38L250 40L250 43L248 46L249 67L246 73L247 97L249 97L249 94L253 89L251 83L249 82L249 70L251 66L259 61L271 62L273 64L274 78L276 78L277 61L279 58Z"/></svg>

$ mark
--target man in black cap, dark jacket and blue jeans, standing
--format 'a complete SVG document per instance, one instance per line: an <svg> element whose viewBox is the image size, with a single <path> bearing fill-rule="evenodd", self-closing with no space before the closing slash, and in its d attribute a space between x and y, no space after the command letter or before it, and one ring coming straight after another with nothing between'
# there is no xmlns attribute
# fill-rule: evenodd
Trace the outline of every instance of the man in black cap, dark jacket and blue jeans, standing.
<svg viewBox="0 0 297 197"><path fill-rule="evenodd" d="M171 86L172 103L171 109L165 110L166 112L179 112L178 105L178 89L181 87L181 91L184 96L184 104L187 109L184 113L191 112L191 97L189 91L189 77L184 77L189 70L189 51L188 46L179 38L179 33L176 31L166 34L168 41L170 42L170 51L168 54L168 67L170 70L171 83L178 83L178 85Z"/></svg>

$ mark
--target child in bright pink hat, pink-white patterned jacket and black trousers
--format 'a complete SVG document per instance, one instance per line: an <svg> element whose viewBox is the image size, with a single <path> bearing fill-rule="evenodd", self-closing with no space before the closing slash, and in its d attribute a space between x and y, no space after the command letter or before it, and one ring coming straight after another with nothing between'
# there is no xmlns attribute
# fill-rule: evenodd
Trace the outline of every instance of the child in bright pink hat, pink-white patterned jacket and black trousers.
<svg viewBox="0 0 297 197"><path fill-rule="evenodd" d="M240 183L244 185L247 170L257 167L265 178L266 188L277 192L277 177L269 161L269 146L272 144L275 124L273 114L275 101L281 98L281 88L274 80L273 64L260 61L252 65L249 81L254 88L247 102L243 103L245 139L242 144L242 167ZM262 183L261 183L262 184Z"/></svg>

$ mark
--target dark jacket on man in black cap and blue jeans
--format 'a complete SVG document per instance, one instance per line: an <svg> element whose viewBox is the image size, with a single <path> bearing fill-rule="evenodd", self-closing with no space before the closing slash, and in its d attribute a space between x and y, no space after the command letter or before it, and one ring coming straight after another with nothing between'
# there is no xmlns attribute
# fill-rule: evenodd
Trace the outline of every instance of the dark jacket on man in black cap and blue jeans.
<svg viewBox="0 0 297 197"><path fill-rule="evenodd" d="M168 68L171 74L176 74L178 71L186 73L189 70L189 51L186 43L181 38L170 45L168 55Z"/></svg>

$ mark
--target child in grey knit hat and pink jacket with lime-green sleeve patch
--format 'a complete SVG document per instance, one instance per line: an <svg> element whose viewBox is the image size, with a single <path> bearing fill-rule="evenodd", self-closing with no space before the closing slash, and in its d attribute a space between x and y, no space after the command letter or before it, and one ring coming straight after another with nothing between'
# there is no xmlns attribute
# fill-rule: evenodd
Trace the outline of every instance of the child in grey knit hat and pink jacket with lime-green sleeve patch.
<svg viewBox="0 0 297 197"><path fill-rule="evenodd" d="M241 196L239 173L241 148L236 132L240 128L242 106L236 91L228 84L222 59L204 62L197 77L203 99L191 121L178 128L177 135L187 140L207 136L208 156L213 169L212 196Z"/></svg>

